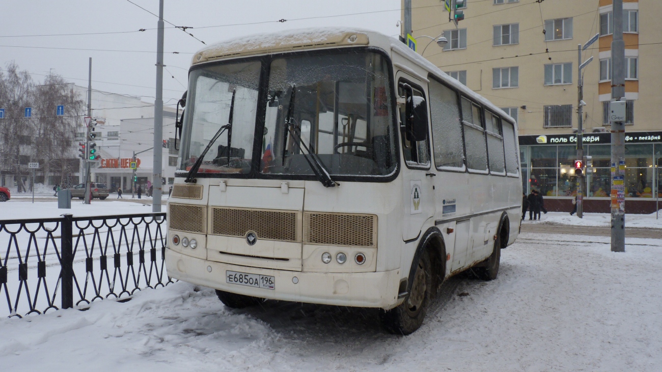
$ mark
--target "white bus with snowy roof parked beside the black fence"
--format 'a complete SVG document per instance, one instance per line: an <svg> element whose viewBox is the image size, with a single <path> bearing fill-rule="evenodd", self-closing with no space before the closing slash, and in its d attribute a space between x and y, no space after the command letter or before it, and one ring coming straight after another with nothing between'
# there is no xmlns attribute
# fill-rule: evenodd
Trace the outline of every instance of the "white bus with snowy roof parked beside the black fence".
<svg viewBox="0 0 662 372"><path fill-rule="evenodd" d="M167 273L226 306L381 308L410 334L444 279L495 279L518 235L516 123L394 38L216 44L180 102Z"/></svg>

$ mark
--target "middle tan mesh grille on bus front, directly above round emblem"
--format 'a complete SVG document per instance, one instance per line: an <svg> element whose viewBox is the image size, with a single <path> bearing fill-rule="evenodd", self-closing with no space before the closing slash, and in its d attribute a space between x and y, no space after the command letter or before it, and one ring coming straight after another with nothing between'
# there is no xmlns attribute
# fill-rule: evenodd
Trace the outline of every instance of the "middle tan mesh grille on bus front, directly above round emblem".
<svg viewBox="0 0 662 372"><path fill-rule="evenodd" d="M258 239L301 242L299 215L294 210L212 207L210 234L243 238L254 231Z"/></svg>

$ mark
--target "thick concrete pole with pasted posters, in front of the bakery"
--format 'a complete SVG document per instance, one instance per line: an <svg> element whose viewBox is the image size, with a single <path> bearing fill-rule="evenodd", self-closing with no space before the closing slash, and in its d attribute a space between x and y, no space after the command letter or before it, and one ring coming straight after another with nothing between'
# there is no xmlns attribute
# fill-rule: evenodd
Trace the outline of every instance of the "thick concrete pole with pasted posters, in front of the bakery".
<svg viewBox="0 0 662 372"><path fill-rule="evenodd" d="M614 0L612 102L625 99L623 0ZM625 252L625 120L612 121L612 252Z"/></svg>

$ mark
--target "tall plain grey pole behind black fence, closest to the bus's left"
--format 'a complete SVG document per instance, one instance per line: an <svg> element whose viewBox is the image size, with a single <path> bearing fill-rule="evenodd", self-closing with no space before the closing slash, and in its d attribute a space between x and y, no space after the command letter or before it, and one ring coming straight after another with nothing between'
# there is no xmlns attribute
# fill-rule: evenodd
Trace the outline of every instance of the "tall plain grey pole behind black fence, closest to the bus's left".
<svg viewBox="0 0 662 372"><path fill-rule="evenodd" d="M161 172L164 130L164 0L159 1L156 36L156 99L154 100L154 166L152 167L152 212L161 212Z"/></svg>

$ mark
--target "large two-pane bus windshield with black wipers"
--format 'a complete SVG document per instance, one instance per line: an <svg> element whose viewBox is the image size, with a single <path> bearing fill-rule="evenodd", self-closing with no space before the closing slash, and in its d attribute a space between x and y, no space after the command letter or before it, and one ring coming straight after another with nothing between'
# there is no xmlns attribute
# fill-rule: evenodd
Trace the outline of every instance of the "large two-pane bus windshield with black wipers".
<svg viewBox="0 0 662 372"><path fill-rule="evenodd" d="M269 71L267 81L260 81L261 64ZM267 93L263 103L260 89ZM343 51L214 64L191 72L189 92L190 125L178 173L190 169L228 124L233 92L232 126L211 146L199 174L312 176L314 164L331 177L395 172L389 65L380 54ZM264 121L256 120L258 105L264 105Z"/></svg>

